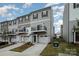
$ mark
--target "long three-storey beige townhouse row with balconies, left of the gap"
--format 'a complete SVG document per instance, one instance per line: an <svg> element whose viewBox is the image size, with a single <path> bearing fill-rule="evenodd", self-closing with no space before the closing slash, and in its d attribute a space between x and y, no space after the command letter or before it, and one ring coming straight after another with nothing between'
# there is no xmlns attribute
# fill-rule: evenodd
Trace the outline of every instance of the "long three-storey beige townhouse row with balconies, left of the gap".
<svg viewBox="0 0 79 59"><path fill-rule="evenodd" d="M53 37L51 7L33 11L14 20L1 22L1 40L11 42L48 43ZM5 39L5 40L4 40Z"/></svg>

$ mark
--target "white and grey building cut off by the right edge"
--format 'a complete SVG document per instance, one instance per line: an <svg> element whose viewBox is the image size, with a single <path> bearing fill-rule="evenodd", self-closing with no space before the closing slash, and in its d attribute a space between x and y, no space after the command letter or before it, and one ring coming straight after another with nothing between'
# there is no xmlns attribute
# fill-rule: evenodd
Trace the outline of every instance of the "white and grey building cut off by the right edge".
<svg viewBox="0 0 79 59"><path fill-rule="evenodd" d="M79 4L67 3L64 8L63 38L67 42L79 42Z"/></svg>

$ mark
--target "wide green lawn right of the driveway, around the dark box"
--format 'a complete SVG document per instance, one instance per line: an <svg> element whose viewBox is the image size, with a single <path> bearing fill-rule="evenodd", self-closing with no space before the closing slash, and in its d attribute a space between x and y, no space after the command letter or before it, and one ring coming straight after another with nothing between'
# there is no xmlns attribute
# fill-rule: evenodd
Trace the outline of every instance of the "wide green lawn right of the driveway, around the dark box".
<svg viewBox="0 0 79 59"><path fill-rule="evenodd" d="M66 51L66 49L70 49ZM60 42L58 48L54 48L52 44L48 44L47 47L42 51L42 56L58 56L58 53L70 53L71 50L76 49L76 55L79 55L79 45L68 44L66 42Z"/></svg>

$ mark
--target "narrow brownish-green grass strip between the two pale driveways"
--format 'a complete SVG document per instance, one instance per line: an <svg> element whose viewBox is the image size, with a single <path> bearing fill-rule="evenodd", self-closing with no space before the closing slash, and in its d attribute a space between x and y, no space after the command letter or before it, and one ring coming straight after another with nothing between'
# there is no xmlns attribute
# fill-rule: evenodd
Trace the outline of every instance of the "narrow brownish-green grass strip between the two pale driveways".
<svg viewBox="0 0 79 59"><path fill-rule="evenodd" d="M11 49L10 51L15 51L15 52L23 52L24 50L26 50L27 48L33 46L32 43L28 42L28 43L25 43L19 47L16 47L14 49Z"/></svg>

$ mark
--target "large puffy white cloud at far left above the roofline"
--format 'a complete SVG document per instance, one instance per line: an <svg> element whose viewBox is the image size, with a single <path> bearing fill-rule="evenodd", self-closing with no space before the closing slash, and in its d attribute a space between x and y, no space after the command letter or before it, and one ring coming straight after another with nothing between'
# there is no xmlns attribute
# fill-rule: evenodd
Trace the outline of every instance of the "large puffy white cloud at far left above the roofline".
<svg viewBox="0 0 79 59"><path fill-rule="evenodd" d="M13 19L14 17L16 17L16 14L13 14L10 11L20 12L21 9L16 7L15 5L4 5L0 7L0 17L6 19Z"/></svg>

